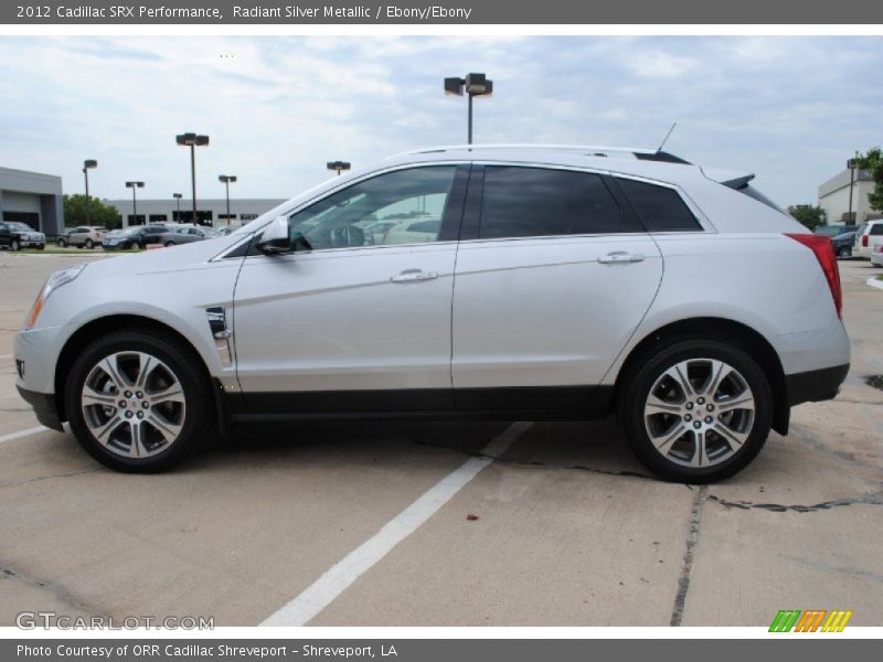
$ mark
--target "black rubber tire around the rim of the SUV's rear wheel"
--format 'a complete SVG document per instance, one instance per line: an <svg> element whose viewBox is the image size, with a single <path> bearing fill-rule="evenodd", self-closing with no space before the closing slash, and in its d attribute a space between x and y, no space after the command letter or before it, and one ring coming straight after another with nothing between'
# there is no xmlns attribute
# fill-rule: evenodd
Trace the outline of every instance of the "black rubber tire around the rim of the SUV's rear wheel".
<svg viewBox="0 0 883 662"><path fill-rule="evenodd" d="M688 467L678 463L678 461L670 459L668 456L663 457L662 452L657 450L648 433L649 424L645 421L645 405L651 388L667 370L683 361L695 361L701 369L701 360L703 359L723 361L740 373L754 397L754 414L744 430L747 438L736 450L731 451L728 456L722 455L717 463L711 463L705 467ZM641 361L635 362L635 365L636 367L631 373L626 375L626 387L620 398L619 416L632 452L650 471L670 481L710 483L738 472L760 452L769 435L773 421L773 394L769 380L746 351L735 344L717 340L705 338L683 339L655 349L652 353L642 356ZM717 414L720 415L721 413L719 412ZM736 415L731 414L731 416ZM705 413L700 418L704 416ZM673 419L672 425L680 424L680 415L672 414L671 417ZM748 418L745 420L748 420ZM694 419L689 425L696 424L701 425L700 421ZM688 424L684 423L683 425ZM691 433L692 436L691 430L688 429L687 431ZM719 445L719 448L724 448L723 436L714 433L711 439ZM695 437L693 437L693 440L695 440ZM678 441L675 444L687 444L687 441ZM687 445L689 446L689 444ZM675 446L672 445L671 449L674 450ZM683 460L683 458L681 459Z"/></svg>

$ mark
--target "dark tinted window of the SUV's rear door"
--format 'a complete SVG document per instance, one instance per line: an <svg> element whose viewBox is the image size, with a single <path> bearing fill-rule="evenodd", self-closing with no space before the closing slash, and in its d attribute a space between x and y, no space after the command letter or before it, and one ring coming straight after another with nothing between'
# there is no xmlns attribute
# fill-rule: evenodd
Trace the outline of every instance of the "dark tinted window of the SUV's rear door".
<svg viewBox="0 0 883 662"><path fill-rule="evenodd" d="M488 167L480 238L623 232L621 211L597 174Z"/></svg>

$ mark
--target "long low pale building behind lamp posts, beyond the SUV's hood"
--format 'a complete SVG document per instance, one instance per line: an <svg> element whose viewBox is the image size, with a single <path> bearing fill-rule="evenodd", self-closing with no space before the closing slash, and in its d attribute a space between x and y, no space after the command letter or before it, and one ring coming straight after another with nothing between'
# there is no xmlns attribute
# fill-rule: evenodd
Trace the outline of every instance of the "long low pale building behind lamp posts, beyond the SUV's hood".
<svg viewBox="0 0 883 662"><path fill-rule="evenodd" d="M105 204L116 207L123 217L123 226L145 225L146 223L193 223L193 202L192 200L181 200L181 214L178 214L178 201L168 200L138 200L138 215L132 212L131 199L128 200L103 200ZM285 200L257 200L257 199L231 199L230 200L230 224L241 225L248 221L254 221L264 212L281 204ZM226 199L219 200L198 200L196 201L196 222L201 225L214 225L222 227L227 224Z"/></svg>

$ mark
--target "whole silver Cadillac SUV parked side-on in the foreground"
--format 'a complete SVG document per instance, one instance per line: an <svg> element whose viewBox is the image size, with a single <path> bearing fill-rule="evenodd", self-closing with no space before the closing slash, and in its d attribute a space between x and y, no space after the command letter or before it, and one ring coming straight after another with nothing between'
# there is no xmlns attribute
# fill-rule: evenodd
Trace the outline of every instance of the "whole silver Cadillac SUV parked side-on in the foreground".
<svg viewBox="0 0 883 662"><path fill-rule="evenodd" d="M752 178L597 147L393 157L230 236L53 275L18 387L123 471L255 420L613 414L659 476L719 480L850 360L830 238Z"/></svg>

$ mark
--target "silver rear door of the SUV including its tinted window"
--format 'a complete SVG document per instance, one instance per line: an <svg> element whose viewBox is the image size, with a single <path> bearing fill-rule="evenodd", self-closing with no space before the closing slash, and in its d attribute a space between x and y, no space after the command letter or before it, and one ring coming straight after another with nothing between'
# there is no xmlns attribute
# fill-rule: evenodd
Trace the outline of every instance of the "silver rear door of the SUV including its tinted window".
<svg viewBox="0 0 883 662"><path fill-rule="evenodd" d="M656 243L606 175L474 166L454 287L457 406L585 403L661 277Z"/></svg>

